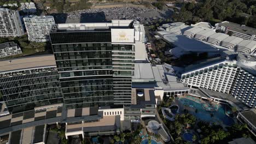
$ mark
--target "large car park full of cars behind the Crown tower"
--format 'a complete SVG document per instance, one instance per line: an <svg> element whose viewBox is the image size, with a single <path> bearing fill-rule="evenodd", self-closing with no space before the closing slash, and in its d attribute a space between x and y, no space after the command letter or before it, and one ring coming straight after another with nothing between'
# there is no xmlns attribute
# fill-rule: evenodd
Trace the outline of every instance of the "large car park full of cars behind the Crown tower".
<svg viewBox="0 0 256 144"><path fill-rule="evenodd" d="M156 19L171 18L172 9L158 10L156 8L104 8L79 10L65 14L53 14L56 23L106 22L110 20L137 20L149 24Z"/></svg>

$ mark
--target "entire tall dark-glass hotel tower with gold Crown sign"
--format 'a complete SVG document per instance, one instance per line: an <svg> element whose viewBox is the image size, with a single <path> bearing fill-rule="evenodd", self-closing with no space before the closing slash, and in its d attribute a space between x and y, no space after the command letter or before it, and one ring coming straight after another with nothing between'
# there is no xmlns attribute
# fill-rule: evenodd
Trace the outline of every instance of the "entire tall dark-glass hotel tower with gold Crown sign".
<svg viewBox="0 0 256 144"><path fill-rule="evenodd" d="M50 39L66 108L130 105L144 37L143 25L132 20L54 25Z"/></svg>

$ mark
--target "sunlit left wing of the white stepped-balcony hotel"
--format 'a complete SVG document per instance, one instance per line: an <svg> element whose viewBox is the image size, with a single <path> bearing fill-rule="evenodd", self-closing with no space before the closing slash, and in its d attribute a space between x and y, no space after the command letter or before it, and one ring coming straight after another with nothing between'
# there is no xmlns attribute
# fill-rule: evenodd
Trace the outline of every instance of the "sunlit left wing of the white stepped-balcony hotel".
<svg viewBox="0 0 256 144"><path fill-rule="evenodd" d="M187 83L189 87L201 87L229 93L237 71L234 63L223 58L206 64L208 65L200 63L197 66L201 67L186 68L185 71L187 70L187 72L182 74L181 81Z"/></svg>

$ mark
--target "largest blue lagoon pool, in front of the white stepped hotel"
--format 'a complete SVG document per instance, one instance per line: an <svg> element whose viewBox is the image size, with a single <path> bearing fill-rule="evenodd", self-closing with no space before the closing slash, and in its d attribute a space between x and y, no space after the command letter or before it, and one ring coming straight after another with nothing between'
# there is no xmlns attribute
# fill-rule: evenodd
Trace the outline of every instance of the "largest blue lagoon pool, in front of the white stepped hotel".
<svg viewBox="0 0 256 144"><path fill-rule="evenodd" d="M196 103L193 100L180 98L179 102L181 102L183 105L188 105L190 107L194 107L194 109L197 109L197 113L190 113L196 118L201 119L201 121L213 122L213 119L215 119L217 121L222 121L225 125L232 125L234 123L234 120L231 117L226 116L224 107L225 105L219 105L218 110L215 112L208 112L203 109L201 103ZM213 117L211 117L211 113L213 113Z"/></svg>

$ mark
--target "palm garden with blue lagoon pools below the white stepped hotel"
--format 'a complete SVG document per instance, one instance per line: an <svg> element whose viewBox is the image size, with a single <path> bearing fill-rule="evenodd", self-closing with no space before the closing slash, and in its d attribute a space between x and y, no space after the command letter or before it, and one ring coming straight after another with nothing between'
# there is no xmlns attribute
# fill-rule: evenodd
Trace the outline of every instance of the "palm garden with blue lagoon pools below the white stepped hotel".
<svg viewBox="0 0 256 144"><path fill-rule="evenodd" d="M164 100L166 102L163 101L158 106L158 112L175 143L227 143L240 137L252 137L246 125L235 123L225 114L225 105L213 105L200 99L184 97L177 98L175 102L173 98ZM161 107L170 107L177 103L183 107L179 107L179 113L174 116L174 121L162 116ZM229 111L232 109L229 108Z"/></svg>

